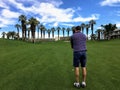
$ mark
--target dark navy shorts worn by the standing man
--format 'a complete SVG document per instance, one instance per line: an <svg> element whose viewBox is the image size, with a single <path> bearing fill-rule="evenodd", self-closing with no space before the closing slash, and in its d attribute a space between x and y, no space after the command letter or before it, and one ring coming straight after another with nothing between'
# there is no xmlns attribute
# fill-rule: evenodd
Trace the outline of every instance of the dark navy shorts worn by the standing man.
<svg viewBox="0 0 120 90"><path fill-rule="evenodd" d="M73 52L73 66L79 67L79 64L81 64L81 67L86 67L86 51L76 51Z"/></svg>

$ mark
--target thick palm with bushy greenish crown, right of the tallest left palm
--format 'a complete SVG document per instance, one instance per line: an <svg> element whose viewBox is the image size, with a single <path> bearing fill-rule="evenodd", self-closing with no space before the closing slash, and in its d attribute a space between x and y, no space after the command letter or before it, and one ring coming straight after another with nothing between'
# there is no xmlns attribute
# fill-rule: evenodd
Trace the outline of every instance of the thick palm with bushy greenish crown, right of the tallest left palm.
<svg viewBox="0 0 120 90"><path fill-rule="evenodd" d="M36 26L39 24L39 21L36 18L31 17L28 23L30 24L30 29L32 33L32 42L35 43L35 30Z"/></svg>

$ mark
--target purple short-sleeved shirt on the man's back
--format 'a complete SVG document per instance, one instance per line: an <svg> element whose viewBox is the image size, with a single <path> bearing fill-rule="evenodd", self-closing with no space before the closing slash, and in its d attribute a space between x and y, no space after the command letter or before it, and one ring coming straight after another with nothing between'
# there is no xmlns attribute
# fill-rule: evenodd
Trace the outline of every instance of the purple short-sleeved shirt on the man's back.
<svg viewBox="0 0 120 90"><path fill-rule="evenodd" d="M71 47L74 51L86 51L86 36L81 32L76 32L71 36Z"/></svg>

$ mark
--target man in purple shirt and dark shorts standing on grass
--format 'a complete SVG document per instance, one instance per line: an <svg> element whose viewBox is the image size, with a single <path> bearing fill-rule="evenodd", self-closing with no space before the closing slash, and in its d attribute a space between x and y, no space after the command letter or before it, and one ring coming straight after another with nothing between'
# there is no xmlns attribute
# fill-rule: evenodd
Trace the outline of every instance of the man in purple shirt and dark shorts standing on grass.
<svg viewBox="0 0 120 90"><path fill-rule="evenodd" d="M74 34L71 36L71 47L73 48L73 66L75 71L74 86L86 87L86 36L80 32L81 27L75 27ZM82 82L79 81L79 64L82 68Z"/></svg>

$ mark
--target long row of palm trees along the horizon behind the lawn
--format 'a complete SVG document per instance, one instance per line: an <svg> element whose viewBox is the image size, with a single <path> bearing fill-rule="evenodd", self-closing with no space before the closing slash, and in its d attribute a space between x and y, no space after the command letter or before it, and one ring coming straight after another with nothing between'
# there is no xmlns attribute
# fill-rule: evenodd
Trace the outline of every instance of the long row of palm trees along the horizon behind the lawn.
<svg viewBox="0 0 120 90"><path fill-rule="evenodd" d="M15 28L17 29L17 33L14 31L10 31L7 34L5 32L2 33L3 38L5 35L7 35L7 38L16 38L20 39L20 30L22 30L22 40L28 40L30 39L30 34L31 34L31 40L34 43L35 42L35 32L37 31L38 33L38 39L39 38L45 38L46 32L48 33L48 38L50 38L50 35L52 34L52 38L54 38L55 31L57 31L58 39L60 38L60 30L62 31L63 37L65 37L65 31L67 32L67 37L69 37L70 31L74 31L75 26L73 27L52 27L51 29L47 29L43 24L40 23L36 18L31 17L30 19L27 20L27 17L25 15L20 15L18 20L21 22L21 24L15 24ZM96 24L95 20L90 20L88 24L81 23L81 32L84 33L84 30L86 30L86 36L88 39L88 34L89 31L91 32L91 40L95 40L96 38L100 40L100 34L104 34L104 36L108 36L111 31L116 29L116 24L106 24L106 25L101 25L103 29L97 29L96 34L94 34L94 25ZM41 37L40 37L41 36Z"/></svg>

